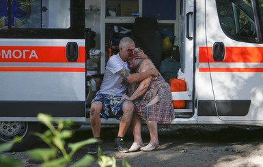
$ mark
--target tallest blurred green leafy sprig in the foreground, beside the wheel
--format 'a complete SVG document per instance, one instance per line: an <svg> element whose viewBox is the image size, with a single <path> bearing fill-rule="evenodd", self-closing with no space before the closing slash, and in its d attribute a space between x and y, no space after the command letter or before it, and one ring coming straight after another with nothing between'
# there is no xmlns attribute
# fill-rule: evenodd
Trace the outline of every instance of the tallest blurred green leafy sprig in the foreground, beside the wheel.
<svg viewBox="0 0 263 167"><path fill-rule="evenodd" d="M72 137L72 131L64 130L66 125L72 125L72 122L64 122L60 119L53 121L53 118L50 115L44 115L42 113L38 114L38 119L49 128L44 134L36 133L36 136L39 136L47 145L49 149L33 149L27 151L29 157L31 157L36 162L42 162L41 166L66 166L72 160L72 156L79 149L85 145L92 144L97 142L95 138L83 140L81 142L70 143L68 148L70 152L66 151L66 142L67 138ZM55 124L55 125L53 125ZM62 153L61 157L57 157L57 152ZM83 157L85 160L85 166L92 164L94 157L92 155ZM78 166L83 164L83 159L76 162ZM84 165L82 165L84 166Z"/></svg>

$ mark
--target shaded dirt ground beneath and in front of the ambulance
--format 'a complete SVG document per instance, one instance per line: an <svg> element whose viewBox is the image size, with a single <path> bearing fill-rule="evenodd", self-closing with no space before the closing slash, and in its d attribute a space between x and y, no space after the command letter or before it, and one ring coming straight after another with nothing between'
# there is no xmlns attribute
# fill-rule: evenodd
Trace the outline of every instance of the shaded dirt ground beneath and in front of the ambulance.
<svg viewBox="0 0 263 167"><path fill-rule="evenodd" d="M125 159L131 166L263 166L263 128L233 127L210 125L169 125L159 126L158 136L161 150L152 152L119 153L113 149L113 140L117 127L102 128L102 150L104 155L115 157L117 166ZM148 129L143 127L143 142L149 141ZM91 138L89 127L76 131L68 142L77 142ZM129 130L124 138L127 147L133 143L133 134ZM38 143L34 147L39 147ZM79 150L72 163L87 152L87 147ZM32 162L24 152L6 153L22 160L25 166L39 166ZM70 166L70 165L69 165ZM91 166L98 166L94 162Z"/></svg>

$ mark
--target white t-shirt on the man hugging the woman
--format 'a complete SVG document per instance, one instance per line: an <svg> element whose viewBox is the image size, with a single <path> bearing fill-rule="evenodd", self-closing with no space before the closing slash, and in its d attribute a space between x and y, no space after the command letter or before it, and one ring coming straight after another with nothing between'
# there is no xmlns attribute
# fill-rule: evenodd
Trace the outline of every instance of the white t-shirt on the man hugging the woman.
<svg viewBox="0 0 263 167"><path fill-rule="evenodd" d="M130 72L128 62L122 61L119 54L111 56L106 65L102 85L97 93L125 95L128 83L121 76L116 74L116 72L119 72L123 68Z"/></svg>

